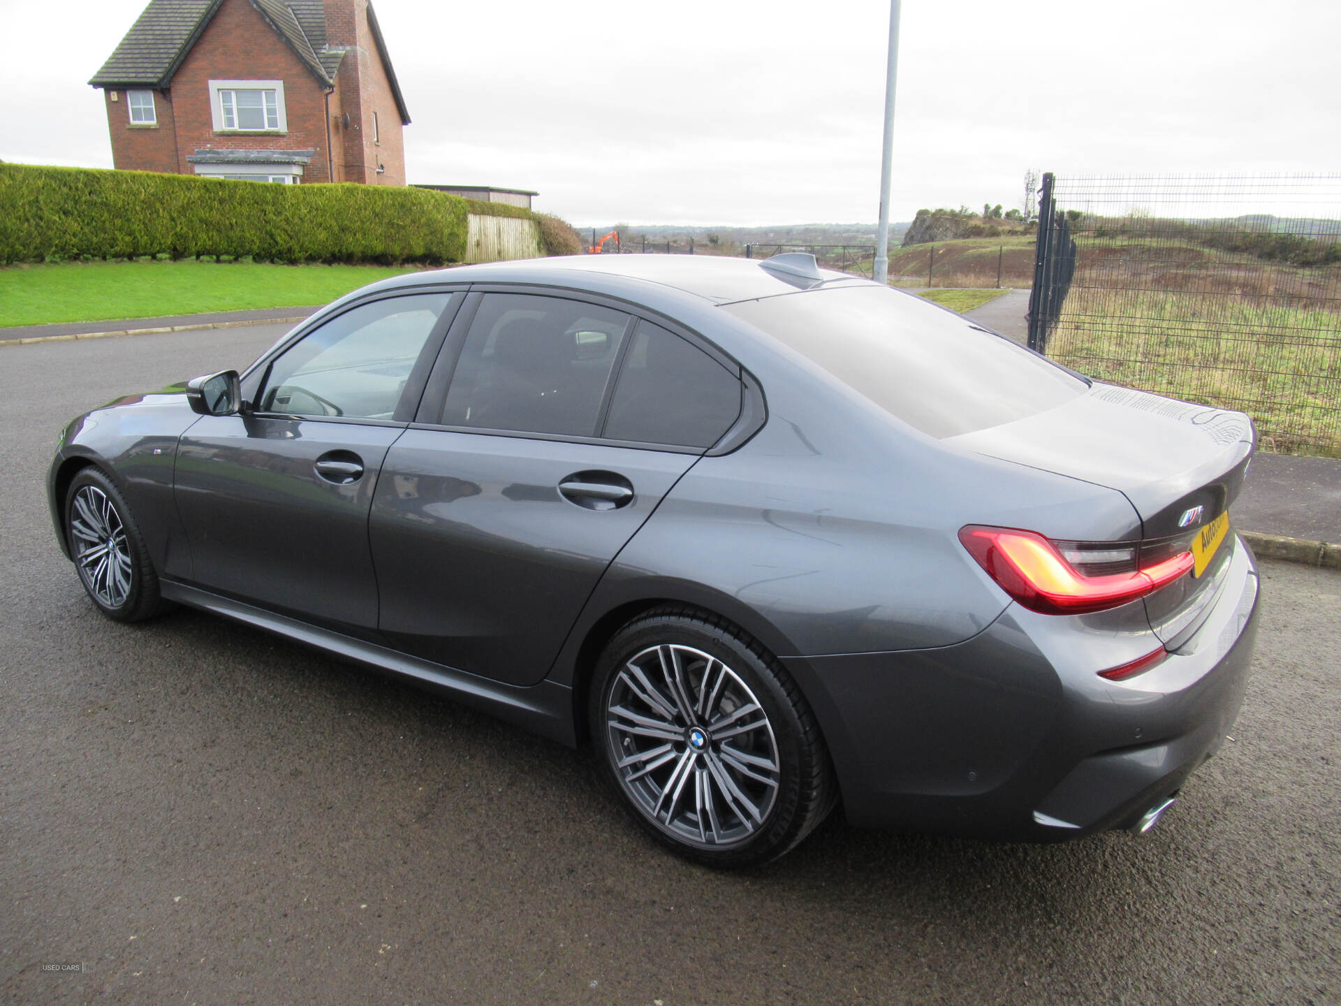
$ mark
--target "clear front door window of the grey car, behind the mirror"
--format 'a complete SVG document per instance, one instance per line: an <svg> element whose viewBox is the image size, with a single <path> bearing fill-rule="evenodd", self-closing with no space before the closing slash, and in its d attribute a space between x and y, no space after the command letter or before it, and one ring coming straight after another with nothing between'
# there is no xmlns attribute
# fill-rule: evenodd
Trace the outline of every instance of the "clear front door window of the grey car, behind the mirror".
<svg viewBox="0 0 1341 1006"><path fill-rule="evenodd" d="M452 294L374 300L308 333L270 366L257 412L394 418Z"/></svg>

